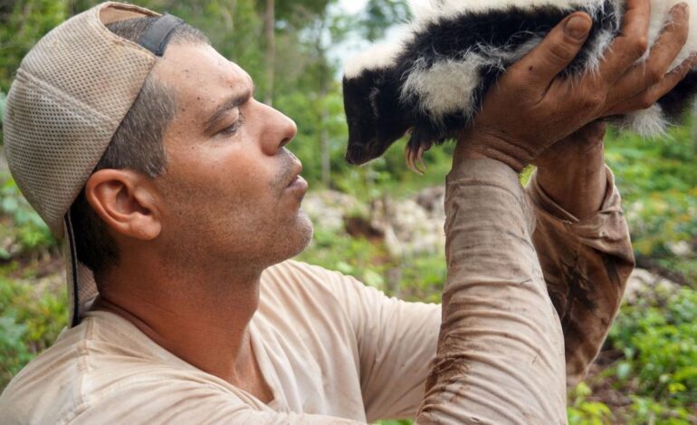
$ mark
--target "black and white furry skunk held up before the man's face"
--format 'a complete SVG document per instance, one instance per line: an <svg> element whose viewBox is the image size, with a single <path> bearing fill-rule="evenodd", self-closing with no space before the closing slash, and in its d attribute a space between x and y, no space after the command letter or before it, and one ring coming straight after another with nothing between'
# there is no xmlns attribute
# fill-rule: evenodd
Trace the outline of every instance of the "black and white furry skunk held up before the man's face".
<svg viewBox="0 0 697 425"><path fill-rule="evenodd" d="M649 44L680 0L652 0ZM697 0L689 0L697 13ZM597 70L603 52L620 32L625 0L430 0L412 5L404 37L359 54L344 69L348 122L346 160L360 165L381 156L411 131L407 164L415 171L434 143L466 128L486 91L511 63L535 47L556 24L576 11L593 27L567 77ZM697 16L671 69L697 50ZM645 60L648 52L644 55ZM677 118L697 90L697 69L650 109L618 118L642 135L658 134Z"/></svg>

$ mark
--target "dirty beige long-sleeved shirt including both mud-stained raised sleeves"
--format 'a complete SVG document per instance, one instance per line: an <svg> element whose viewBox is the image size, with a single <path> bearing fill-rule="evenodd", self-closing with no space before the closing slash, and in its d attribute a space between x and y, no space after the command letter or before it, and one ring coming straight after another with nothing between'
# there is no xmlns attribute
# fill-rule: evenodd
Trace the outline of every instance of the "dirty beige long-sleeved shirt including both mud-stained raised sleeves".
<svg viewBox="0 0 697 425"><path fill-rule="evenodd" d="M297 261L263 273L250 323L264 404L91 311L0 397L3 423L566 423L566 384L597 354L633 257L607 173L579 221L534 177L465 161L447 178L441 306ZM549 295L548 295L549 291ZM566 353L565 353L566 345Z"/></svg>

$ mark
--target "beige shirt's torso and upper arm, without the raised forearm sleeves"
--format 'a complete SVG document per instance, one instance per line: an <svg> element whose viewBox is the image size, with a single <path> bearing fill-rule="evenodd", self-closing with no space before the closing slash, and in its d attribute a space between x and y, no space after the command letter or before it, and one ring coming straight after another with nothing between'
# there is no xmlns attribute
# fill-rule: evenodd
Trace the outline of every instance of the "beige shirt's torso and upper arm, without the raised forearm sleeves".
<svg viewBox="0 0 697 425"><path fill-rule="evenodd" d="M387 298L289 260L264 272L250 325L273 392L268 406L186 364L125 319L93 311L14 378L0 422L283 423L293 411L361 422L414 416L439 323L436 305Z"/></svg>

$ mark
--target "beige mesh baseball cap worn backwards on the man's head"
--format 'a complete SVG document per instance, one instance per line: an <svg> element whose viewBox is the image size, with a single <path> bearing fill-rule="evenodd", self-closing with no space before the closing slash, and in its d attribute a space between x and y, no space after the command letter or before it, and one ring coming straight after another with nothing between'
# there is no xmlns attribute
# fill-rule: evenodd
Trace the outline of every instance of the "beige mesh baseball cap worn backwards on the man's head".
<svg viewBox="0 0 697 425"><path fill-rule="evenodd" d="M138 42L105 26L147 16L159 17ZM180 24L175 16L136 5L96 5L36 43L7 96L7 163L24 197L64 240L71 327L99 294L91 270L77 257L71 205Z"/></svg>

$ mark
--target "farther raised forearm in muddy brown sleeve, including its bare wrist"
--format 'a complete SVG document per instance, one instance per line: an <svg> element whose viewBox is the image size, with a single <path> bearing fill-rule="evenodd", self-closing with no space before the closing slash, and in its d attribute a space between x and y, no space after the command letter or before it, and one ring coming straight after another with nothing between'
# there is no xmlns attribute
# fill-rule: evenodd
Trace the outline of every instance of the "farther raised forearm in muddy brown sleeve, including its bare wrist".
<svg viewBox="0 0 697 425"><path fill-rule="evenodd" d="M604 161L605 130L597 121L551 146L527 187L538 217L532 241L564 331L568 385L583 379L603 345L634 268Z"/></svg>

